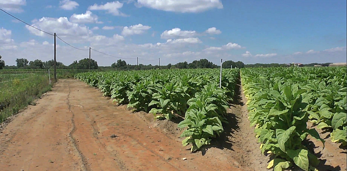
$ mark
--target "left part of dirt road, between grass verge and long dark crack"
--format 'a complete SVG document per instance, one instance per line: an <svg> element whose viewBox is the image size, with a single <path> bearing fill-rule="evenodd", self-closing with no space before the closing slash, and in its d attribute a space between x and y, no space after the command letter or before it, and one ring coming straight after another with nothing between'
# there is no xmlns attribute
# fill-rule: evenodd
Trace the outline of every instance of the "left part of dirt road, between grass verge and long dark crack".
<svg viewBox="0 0 347 171"><path fill-rule="evenodd" d="M80 159L72 145L68 132L70 113L66 105L67 85L56 84L52 92L28 106L18 114L0 134L1 171L80 170ZM11 137L6 135L11 134Z"/></svg>

